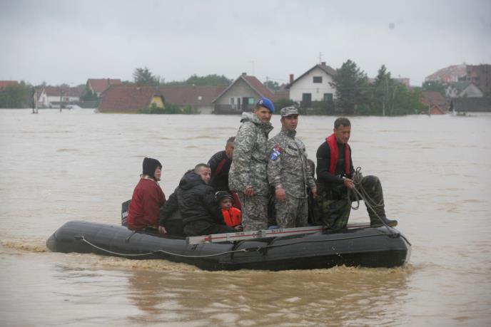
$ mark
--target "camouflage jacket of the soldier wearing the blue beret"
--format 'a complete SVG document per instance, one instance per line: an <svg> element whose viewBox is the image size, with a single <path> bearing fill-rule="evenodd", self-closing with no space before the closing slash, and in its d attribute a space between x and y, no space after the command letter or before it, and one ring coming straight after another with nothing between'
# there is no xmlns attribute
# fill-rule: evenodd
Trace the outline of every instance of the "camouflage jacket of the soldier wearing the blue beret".
<svg viewBox="0 0 491 327"><path fill-rule="evenodd" d="M243 113L241 122L234 142L228 187L238 192L243 192L246 187L253 187L255 194L267 196L267 143L273 125L263 123L253 113Z"/></svg>

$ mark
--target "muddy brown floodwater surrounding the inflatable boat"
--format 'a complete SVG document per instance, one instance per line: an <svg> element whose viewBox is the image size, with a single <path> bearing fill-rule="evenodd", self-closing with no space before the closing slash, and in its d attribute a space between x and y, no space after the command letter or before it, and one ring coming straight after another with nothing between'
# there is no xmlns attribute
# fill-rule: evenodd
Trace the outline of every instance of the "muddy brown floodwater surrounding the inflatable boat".
<svg viewBox="0 0 491 327"><path fill-rule="evenodd" d="M310 157L333 120L300 117ZM351 121L355 166L380 177L412 242L402 268L208 272L51 253L64 222L120 222L143 157L161 160L169 195L239 117L0 110L1 326L490 326L491 116Z"/></svg>

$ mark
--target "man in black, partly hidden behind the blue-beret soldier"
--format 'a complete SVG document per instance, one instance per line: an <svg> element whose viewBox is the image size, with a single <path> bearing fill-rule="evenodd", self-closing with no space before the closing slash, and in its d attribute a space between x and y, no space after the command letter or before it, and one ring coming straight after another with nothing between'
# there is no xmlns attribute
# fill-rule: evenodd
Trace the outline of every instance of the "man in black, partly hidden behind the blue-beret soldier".
<svg viewBox="0 0 491 327"><path fill-rule="evenodd" d="M208 160L208 166L211 168L210 186L215 189L215 192L230 191L228 189L228 172L232 164L233 142L235 140L235 136L228 137L225 150L216 152L210 160Z"/></svg>

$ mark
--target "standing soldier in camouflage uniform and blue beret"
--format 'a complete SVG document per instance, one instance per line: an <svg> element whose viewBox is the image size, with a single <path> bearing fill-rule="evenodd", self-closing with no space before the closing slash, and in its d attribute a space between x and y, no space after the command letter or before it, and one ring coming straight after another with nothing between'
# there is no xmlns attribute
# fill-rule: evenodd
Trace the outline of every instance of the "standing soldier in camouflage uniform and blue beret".
<svg viewBox="0 0 491 327"><path fill-rule="evenodd" d="M254 113L243 113L242 125L236 135L228 187L241 199L242 224L245 231L268 228L268 134L275 107L268 98L261 98Z"/></svg>

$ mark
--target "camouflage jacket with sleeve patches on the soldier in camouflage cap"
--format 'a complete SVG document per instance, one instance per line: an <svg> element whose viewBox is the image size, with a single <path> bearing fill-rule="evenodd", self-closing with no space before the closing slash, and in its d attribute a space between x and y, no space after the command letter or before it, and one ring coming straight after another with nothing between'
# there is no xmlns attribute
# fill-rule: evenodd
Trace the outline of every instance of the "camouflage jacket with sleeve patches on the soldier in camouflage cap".
<svg viewBox="0 0 491 327"><path fill-rule="evenodd" d="M307 152L296 131L281 130L268 141L268 180L275 188L283 187L286 194L307 197L307 187L315 187Z"/></svg>

